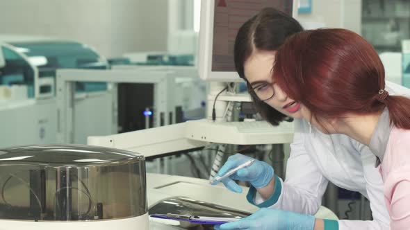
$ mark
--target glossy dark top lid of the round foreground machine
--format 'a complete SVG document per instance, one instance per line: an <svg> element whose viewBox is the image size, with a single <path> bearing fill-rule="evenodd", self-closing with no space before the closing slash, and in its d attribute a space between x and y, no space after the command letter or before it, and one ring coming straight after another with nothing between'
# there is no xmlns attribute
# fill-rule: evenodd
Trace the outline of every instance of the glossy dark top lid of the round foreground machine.
<svg viewBox="0 0 410 230"><path fill-rule="evenodd" d="M0 150L0 166L110 166L144 159L135 152L92 145L29 145Z"/></svg>

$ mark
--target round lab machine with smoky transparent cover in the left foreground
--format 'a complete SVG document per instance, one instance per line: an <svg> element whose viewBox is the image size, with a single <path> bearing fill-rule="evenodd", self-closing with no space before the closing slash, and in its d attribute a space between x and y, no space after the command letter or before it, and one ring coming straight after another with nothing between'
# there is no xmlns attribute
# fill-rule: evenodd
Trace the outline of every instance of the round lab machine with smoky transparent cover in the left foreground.
<svg viewBox="0 0 410 230"><path fill-rule="evenodd" d="M87 145L1 153L1 229L149 229L142 155Z"/></svg>

